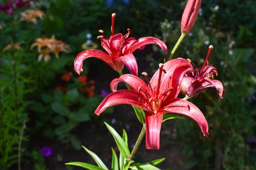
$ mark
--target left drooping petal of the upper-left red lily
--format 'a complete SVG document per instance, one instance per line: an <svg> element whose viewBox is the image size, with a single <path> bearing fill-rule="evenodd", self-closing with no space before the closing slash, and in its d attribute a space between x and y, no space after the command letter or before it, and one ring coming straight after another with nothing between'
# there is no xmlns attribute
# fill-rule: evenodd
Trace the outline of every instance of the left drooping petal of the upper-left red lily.
<svg viewBox="0 0 256 170"><path fill-rule="evenodd" d="M106 62L109 66L111 66L116 71L120 71L115 65L115 63L113 62L112 56L108 55L107 53L104 53L103 51L91 49L91 50L82 51L76 56L76 59L74 60L74 69L76 73L78 74L81 73L83 68L83 60L89 57L98 58L103 62Z"/></svg>

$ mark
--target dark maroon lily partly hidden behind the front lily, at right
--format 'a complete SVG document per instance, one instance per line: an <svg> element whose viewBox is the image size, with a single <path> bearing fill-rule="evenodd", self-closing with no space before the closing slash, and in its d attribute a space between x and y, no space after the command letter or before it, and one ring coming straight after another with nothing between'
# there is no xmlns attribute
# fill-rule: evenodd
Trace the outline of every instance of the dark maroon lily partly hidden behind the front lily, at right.
<svg viewBox="0 0 256 170"><path fill-rule="evenodd" d="M185 73L182 79L181 93L186 95L187 97L193 97L205 88L214 87L217 90L217 96L219 98L223 98L225 91L222 82L213 79L214 75L218 75L217 69L213 66L206 65L212 49L213 46L210 45L207 57L200 72L196 67L193 67L191 64L191 66L193 67L193 71L188 71Z"/></svg>

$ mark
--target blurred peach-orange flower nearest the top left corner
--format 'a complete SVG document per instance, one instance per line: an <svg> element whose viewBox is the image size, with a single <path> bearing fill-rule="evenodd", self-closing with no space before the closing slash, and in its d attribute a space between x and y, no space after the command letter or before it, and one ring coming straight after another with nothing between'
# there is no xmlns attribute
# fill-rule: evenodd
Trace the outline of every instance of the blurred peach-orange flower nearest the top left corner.
<svg viewBox="0 0 256 170"><path fill-rule="evenodd" d="M44 14L45 13L40 10L25 10L20 13L21 17L19 21L34 22L34 24L37 24L36 18L39 17L42 20Z"/></svg>

